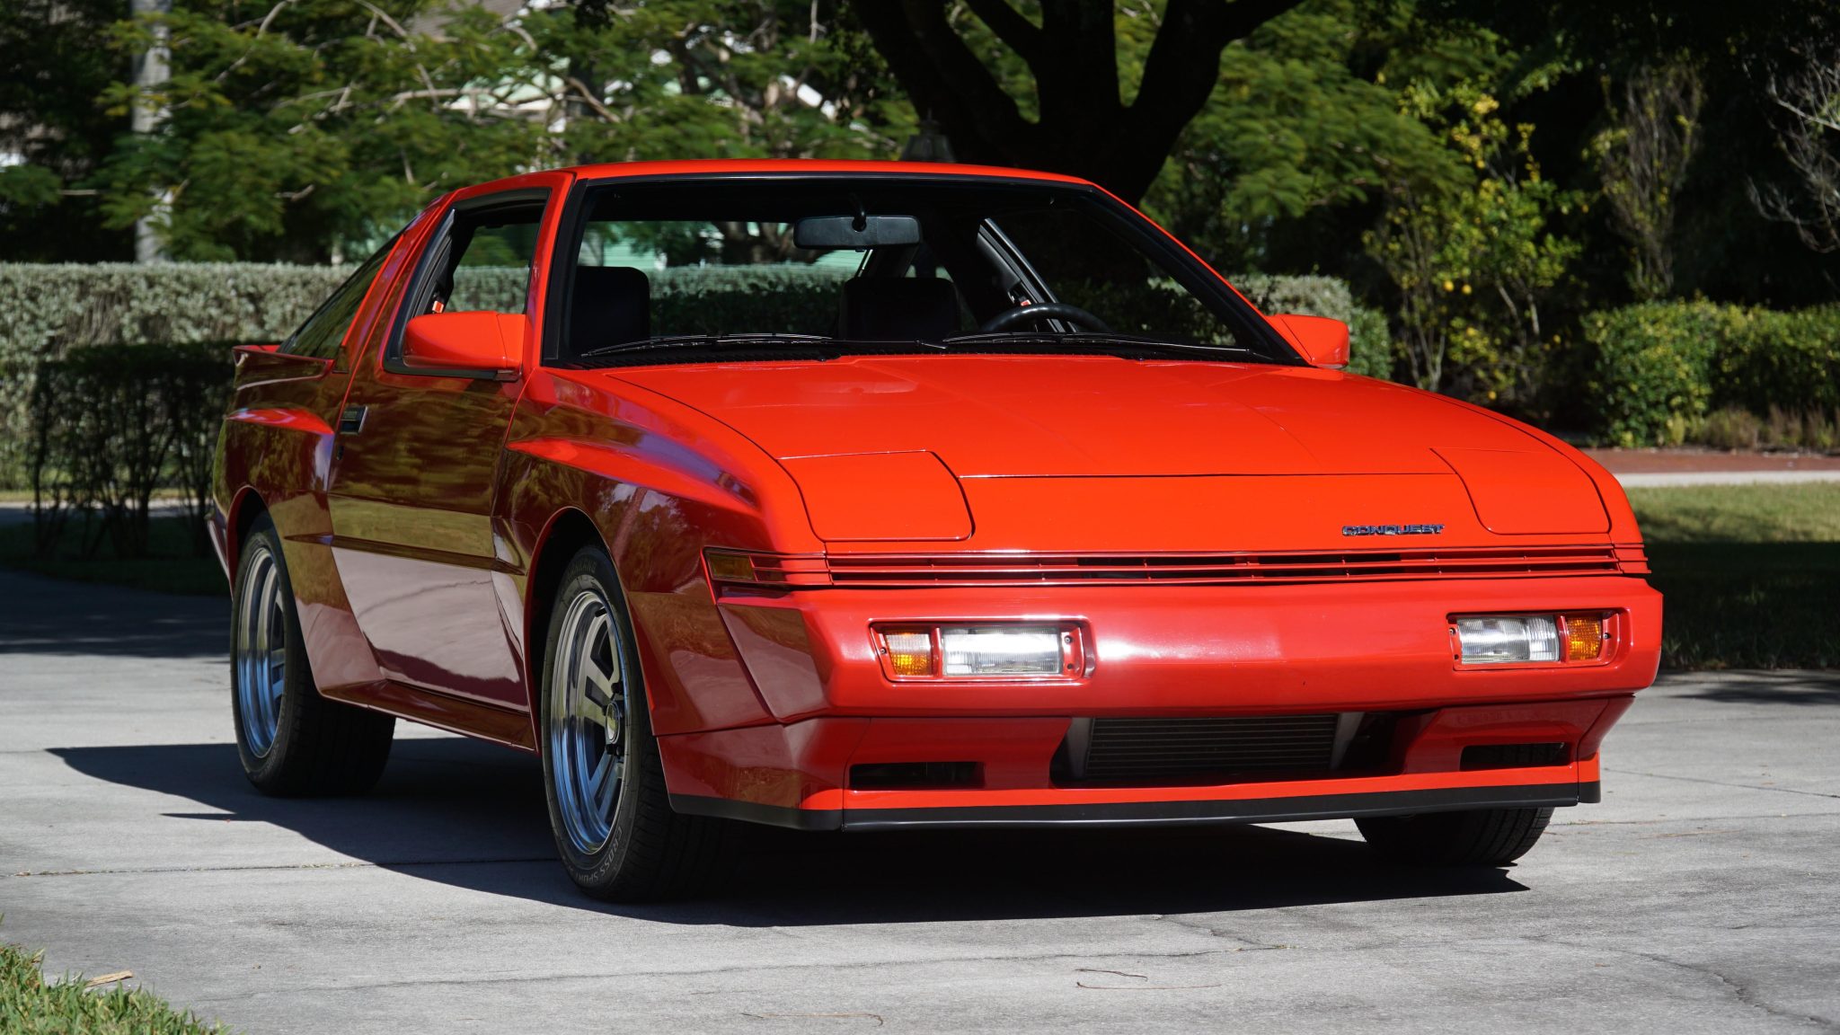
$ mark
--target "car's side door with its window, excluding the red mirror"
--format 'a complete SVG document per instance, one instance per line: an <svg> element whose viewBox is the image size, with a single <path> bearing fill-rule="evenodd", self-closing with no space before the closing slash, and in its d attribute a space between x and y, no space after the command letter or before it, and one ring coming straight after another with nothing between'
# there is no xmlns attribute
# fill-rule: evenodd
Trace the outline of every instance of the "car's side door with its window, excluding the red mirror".
<svg viewBox="0 0 1840 1035"><path fill-rule="evenodd" d="M537 256L569 179L462 193L442 214L396 319L353 374L328 492L339 578L385 676L513 709L526 707L512 635L521 615L493 495L524 378L410 368L401 343L412 317L466 309L519 313L535 343Z"/></svg>

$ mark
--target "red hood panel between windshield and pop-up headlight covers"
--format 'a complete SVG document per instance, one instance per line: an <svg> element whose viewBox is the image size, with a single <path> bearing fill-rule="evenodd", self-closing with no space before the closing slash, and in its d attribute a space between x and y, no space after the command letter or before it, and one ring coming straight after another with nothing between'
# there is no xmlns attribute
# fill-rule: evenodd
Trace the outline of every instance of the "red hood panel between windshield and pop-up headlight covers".
<svg viewBox="0 0 1840 1035"><path fill-rule="evenodd" d="M1437 396L1297 366L927 355L618 378L782 460L926 449L959 477L1448 473L1437 446L1546 449Z"/></svg>

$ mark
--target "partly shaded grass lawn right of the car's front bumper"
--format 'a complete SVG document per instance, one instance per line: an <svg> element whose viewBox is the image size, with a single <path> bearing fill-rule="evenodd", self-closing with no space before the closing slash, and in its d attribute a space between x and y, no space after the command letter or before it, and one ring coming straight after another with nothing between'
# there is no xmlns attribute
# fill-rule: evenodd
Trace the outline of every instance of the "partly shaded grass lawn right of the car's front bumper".
<svg viewBox="0 0 1840 1035"><path fill-rule="evenodd" d="M1636 488L1663 669L1840 667L1840 484Z"/></svg>

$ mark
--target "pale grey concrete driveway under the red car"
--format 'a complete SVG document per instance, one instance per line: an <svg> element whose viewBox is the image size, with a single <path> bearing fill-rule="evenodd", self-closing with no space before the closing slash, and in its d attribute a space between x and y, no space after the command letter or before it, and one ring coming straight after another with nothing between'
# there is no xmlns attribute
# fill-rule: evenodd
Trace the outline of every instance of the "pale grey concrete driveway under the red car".
<svg viewBox="0 0 1840 1035"><path fill-rule="evenodd" d="M1840 1022L1840 676L1671 678L1520 866L1349 823L773 838L727 897L578 897L528 759L403 738L269 801L224 604L0 575L0 937L283 1031L1803 1031ZM405 737L405 733L399 733Z"/></svg>

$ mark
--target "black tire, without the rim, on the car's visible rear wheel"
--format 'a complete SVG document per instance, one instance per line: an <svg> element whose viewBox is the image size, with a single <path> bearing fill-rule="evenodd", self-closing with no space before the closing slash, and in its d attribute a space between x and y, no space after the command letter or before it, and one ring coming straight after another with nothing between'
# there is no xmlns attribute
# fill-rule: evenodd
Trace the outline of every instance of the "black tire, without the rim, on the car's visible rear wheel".
<svg viewBox="0 0 1840 1035"><path fill-rule="evenodd" d="M280 599L267 619L269 628L282 630L282 696L272 707L272 733L265 722L245 722L252 707L250 687L254 659L245 650L250 637L252 599L259 587L250 578L272 578ZM259 604L258 604L259 606ZM294 593L282 560L282 536L267 514L256 518L237 558L237 578L230 587L230 715L236 726L236 748L243 759L243 773L263 794L272 796L329 796L362 794L370 790L383 766L390 761L390 738L396 716L370 711L320 696L307 665L307 650L300 635L300 615L294 611Z"/></svg>

